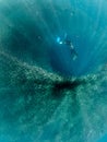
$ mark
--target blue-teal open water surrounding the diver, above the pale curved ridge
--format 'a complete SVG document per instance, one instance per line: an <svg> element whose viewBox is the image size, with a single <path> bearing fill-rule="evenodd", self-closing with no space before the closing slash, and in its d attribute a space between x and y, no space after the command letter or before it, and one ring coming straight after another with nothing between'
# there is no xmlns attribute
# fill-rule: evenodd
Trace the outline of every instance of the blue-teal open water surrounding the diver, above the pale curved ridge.
<svg viewBox="0 0 107 142"><path fill-rule="evenodd" d="M4 0L0 13L1 45L22 60L70 75L92 72L107 61L105 0ZM78 52L75 61L57 45L57 36L66 33Z"/></svg>

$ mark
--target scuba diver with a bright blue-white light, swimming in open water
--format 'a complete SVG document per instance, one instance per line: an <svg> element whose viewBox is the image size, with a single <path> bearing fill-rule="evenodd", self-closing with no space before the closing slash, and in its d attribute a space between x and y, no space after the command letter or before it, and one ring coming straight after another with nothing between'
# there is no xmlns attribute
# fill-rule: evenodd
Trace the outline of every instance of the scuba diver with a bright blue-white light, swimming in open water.
<svg viewBox="0 0 107 142"><path fill-rule="evenodd" d="M69 38L68 34L64 34L63 40L60 37L57 37L57 43L60 44L60 45L67 45L67 46L69 46L69 48L71 50L71 56L73 57L72 59L75 60L78 58L78 54L74 50L74 46L72 45L72 42Z"/></svg>

